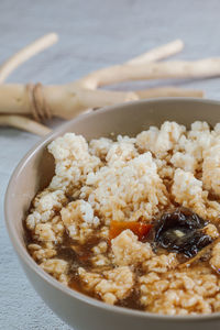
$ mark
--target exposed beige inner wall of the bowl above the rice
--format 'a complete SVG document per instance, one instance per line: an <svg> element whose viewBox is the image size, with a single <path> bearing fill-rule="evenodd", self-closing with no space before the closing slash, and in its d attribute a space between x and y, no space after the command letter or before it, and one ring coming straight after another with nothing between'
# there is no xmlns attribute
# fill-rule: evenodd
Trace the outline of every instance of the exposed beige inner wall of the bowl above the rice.
<svg viewBox="0 0 220 330"><path fill-rule="evenodd" d="M196 120L215 125L220 122L220 105L208 100L178 98L106 108L69 121L34 146L16 167L6 197L7 226L19 255L31 266L22 221L35 194L46 187L54 175L54 161L46 150L51 141L65 132L82 134L87 140L118 134L132 136L150 125L158 127L166 120L187 127Z"/></svg>

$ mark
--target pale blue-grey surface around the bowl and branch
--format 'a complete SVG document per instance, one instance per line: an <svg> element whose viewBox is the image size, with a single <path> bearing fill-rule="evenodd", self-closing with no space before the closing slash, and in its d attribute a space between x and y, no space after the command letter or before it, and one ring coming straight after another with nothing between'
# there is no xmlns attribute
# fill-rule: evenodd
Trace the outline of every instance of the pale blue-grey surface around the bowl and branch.
<svg viewBox="0 0 220 330"><path fill-rule="evenodd" d="M177 37L186 44L177 58L220 56L220 1L0 0L0 63L53 31L59 34L59 43L16 69L10 82L72 81ZM219 78L180 82L205 89L208 98L220 99ZM0 329L6 330L69 329L26 280L3 222L3 197L9 177L38 139L21 131L0 129Z"/></svg>

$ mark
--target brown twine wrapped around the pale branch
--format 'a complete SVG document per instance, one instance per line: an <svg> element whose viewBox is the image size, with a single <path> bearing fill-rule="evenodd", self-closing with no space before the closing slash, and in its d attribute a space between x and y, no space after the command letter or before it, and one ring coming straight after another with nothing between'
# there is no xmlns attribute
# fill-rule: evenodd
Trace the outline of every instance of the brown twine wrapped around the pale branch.
<svg viewBox="0 0 220 330"><path fill-rule="evenodd" d="M51 119L52 113L48 105L46 103L42 84L26 84L26 91L33 118L38 122L45 119Z"/></svg>

